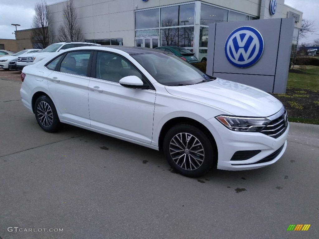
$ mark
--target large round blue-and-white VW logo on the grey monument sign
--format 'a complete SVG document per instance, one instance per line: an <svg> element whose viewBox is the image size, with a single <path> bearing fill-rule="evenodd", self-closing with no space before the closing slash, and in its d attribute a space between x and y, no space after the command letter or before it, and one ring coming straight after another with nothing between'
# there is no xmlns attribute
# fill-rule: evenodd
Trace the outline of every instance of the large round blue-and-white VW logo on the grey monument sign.
<svg viewBox="0 0 319 239"><path fill-rule="evenodd" d="M242 26L228 36L225 43L227 60L235 67L254 65L263 54L263 37L253 27Z"/></svg>

